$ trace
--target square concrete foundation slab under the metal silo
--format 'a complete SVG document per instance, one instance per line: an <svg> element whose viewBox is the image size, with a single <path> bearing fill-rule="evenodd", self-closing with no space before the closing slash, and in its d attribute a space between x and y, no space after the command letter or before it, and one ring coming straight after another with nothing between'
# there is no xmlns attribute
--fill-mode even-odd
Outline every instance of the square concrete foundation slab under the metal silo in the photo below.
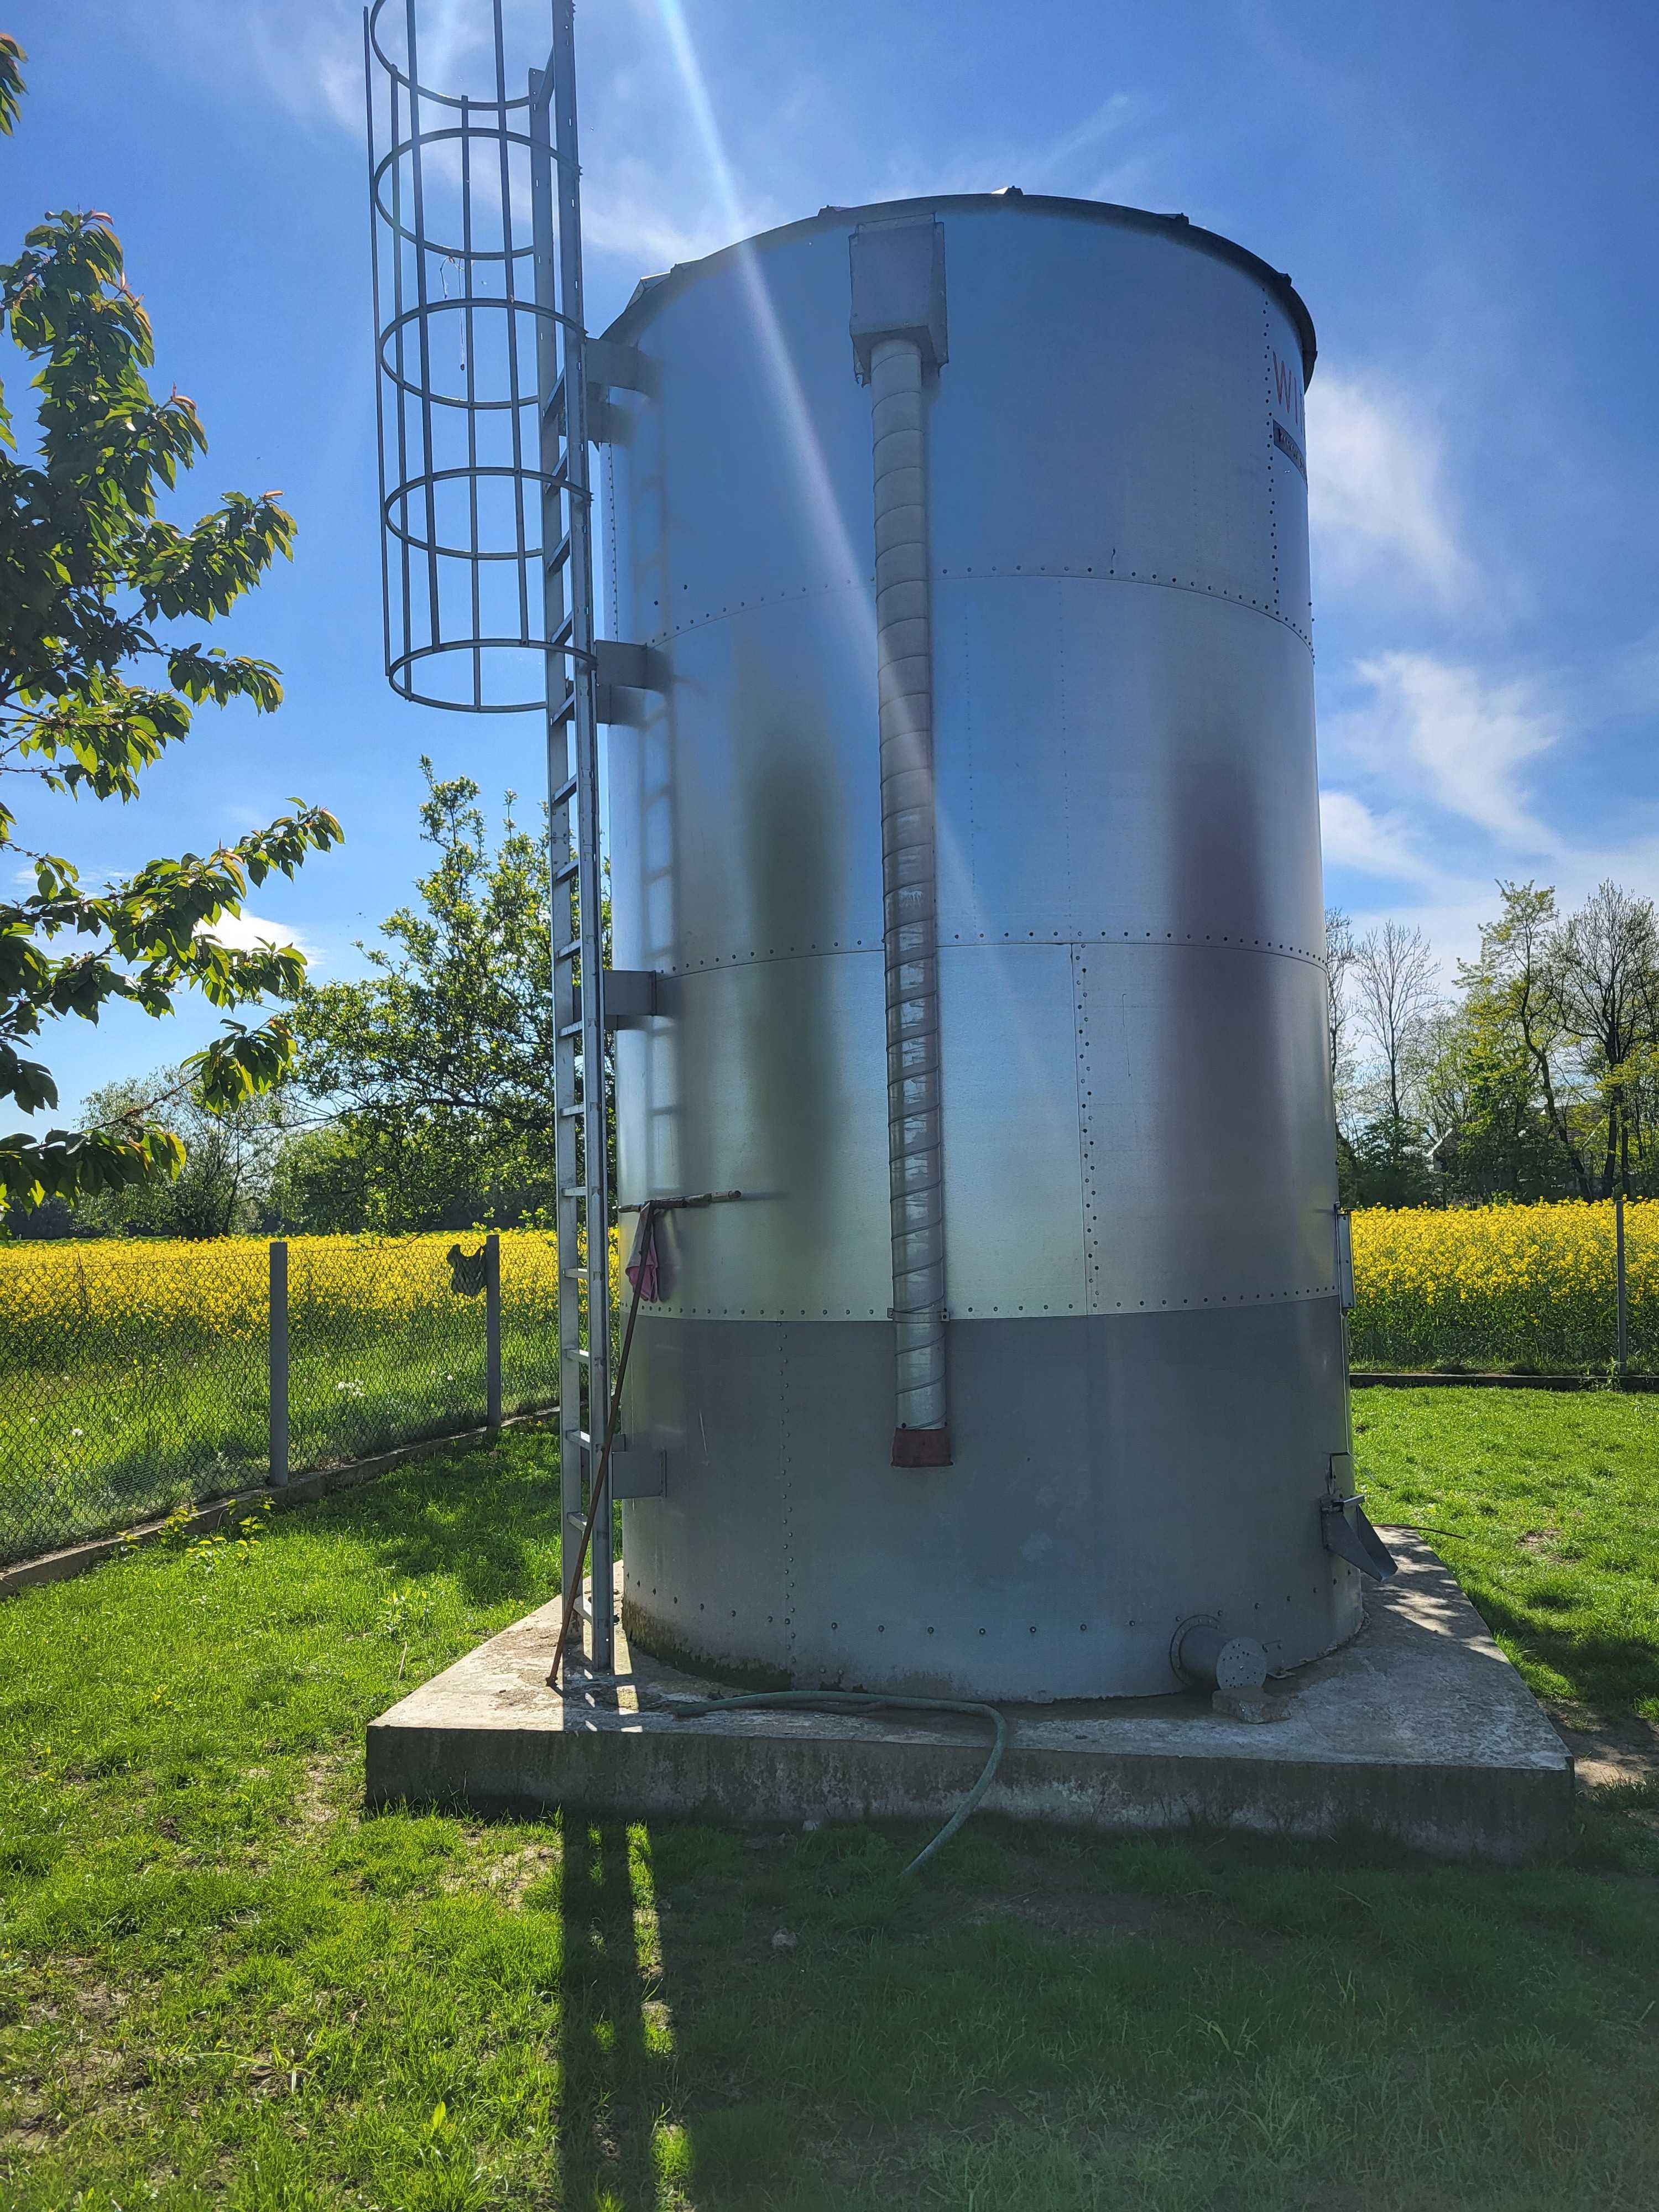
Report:
<svg viewBox="0 0 1659 2212"><path fill-rule="evenodd" d="M1186 1823L1279 1836L1363 1827L1444 1856L1566 1845L1573 1759L1444 1564L1385 1531L1398 1577L1343 1650L1270 1683L1265 1705L1201 1697L1009 1705L987 1812L1095 1829ZM615 1677L546 1688L557 1606L515 1621L367 1732L372 1805L467 1805L732 1823L945 1820L984 1763L953 1717L728 1712L719 1692L617 1641ZM1265 1719L1250 1714L1265 1712Z"/></svg>

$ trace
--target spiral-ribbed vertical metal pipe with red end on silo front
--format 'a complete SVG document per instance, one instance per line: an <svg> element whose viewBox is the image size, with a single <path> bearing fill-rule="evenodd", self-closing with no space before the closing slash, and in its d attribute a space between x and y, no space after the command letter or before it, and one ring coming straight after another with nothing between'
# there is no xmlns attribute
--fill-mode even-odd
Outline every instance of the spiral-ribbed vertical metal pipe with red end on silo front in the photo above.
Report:
<svg viewBox="0 0 1659 2212"><path fill-rule="evenodd" d="M911 338L876 341L869 349L869 396L876 460L887 1166L898 1338L894 1467L949 1467L933 637L920 345Z"/></svg>

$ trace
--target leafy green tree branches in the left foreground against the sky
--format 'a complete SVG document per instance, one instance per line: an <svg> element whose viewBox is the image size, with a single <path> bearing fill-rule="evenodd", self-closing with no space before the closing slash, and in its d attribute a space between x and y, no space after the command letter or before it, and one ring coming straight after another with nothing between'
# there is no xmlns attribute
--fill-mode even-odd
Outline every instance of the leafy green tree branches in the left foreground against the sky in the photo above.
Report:
<svg viewBox="0 0 1659 2212"><path fill-rule="evenodd" d="M18 119L22 60L0 35L0 133ZM197 626L230 613L276 555L290 555L294 522L272 491L226 493L192 529L157 513L159 493L208 440L192 400L177 389L157 400L144 380L150 323L108 217L38 223L0 265L0 319L38 363L40 394L29 453L0 405L0 776L27 779L38 796L131 801L144 772L184 741L197 706L246 699L265 714L281 701L270 661L210 648ZM292 876L338 836L332 814L296 803L234 845L148 860L88 889L62 854L20 843L15 807L0 799L0 865L15 878L15 858L27 860L35 885L27 898L0 898L0 1102L22 1113L58 1104L51 1071L24 1053L44 1022L95 1022L119 1000L166 1015L184 991L226 1015L292 998L305 975L292 945L243 951L212 929L241 914L252 885ZM173 1095L237 1106L276 1084L290 1053L281 1013L228 1018ZM0 1137L0 1192L80 1199L177 1175L184 1144L170 1104L131 1099L88 1128Z"/></svg>

